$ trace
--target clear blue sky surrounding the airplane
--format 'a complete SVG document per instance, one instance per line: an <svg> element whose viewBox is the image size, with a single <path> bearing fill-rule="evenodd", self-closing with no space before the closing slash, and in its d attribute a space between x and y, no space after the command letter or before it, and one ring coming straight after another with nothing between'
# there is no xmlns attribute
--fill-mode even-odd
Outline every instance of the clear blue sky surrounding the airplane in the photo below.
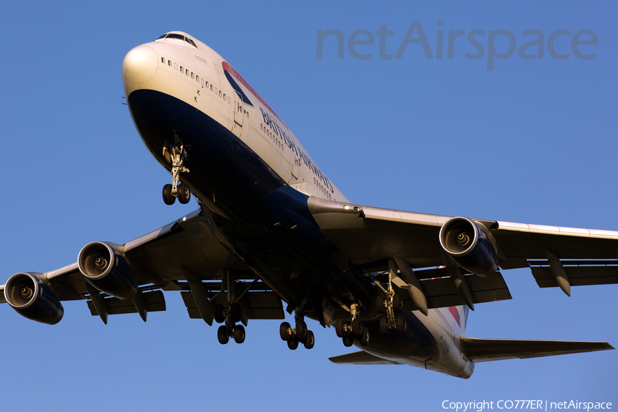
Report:
<svg viewBox="0 0 618 412"><path fill-rule="evenodd" d="M3 5L0 141L5 165L0 283L20 271L76 261L93 240L124 243L196 208L168 207L169 174L152 158L122 105L122 58L170 30L224 56L303 142L331 181L356 203L450 216L618 230L615 1L12 2ZM395 54L419 21L432 59L408 45L399 59L374 45L334 37L316 58L317 32L393 30ZM438 26L437 21L444 21ZM444 58L437 59L437 30ZM448 30L485 30L478 60L466 36L446 58ZM488 37L516 47L545 36L543 59L514 52L488 71ZM547 41L569 54L552 58ZM597 45L576 32L592 30ZM417 37L415 33L413 37ZM358 39L363 39L359 36ZM586 37L584 37L586 38ZM589 37L588 37L589 38ZM507 36L496 36L505 54ZM536 47L527 49L535 53ZM513 296L477 306L466 334L618 344L617 286L541 290L526 270L503 273ZM58 325L0 308L3 410L439 411L443 400L538 399L614 402L617 351L477 365L469 380L413 367L342 367L350 352L334 330L310 325L316 346L290 351L278 321L253 321L242 345L220 345L216 329L189 319L179 295L168 310L91 317L65 304Z"/></svg>

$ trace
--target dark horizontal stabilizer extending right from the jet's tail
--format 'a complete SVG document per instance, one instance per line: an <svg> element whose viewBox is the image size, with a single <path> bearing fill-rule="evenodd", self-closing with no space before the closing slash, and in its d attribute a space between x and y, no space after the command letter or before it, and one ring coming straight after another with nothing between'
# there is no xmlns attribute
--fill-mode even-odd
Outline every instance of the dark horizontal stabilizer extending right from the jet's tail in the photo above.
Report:
<svg viewBox="0 0 618 412"><path fill-rule="evenodd" d="M526 341L514 339L460 338L461 352L474 362L539 358L614 349L607 342Z"/></svg>

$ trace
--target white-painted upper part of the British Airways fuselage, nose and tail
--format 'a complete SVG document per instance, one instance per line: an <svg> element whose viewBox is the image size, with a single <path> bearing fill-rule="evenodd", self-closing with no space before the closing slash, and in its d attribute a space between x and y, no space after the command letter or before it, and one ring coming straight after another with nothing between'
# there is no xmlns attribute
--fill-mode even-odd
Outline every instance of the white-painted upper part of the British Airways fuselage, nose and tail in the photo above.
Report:
<svg viewBox="0 0 618 412"><path fill-rule="evenodd" d="M174 33L191 37L183 32ZM135 90L150 89L182 100L234 133L288 185L299 192L308 196L347 202L347 198L321 172L288 126L249 84L244 82L236 71L230 70L231 74L239 76L233 78L249 97L253 106L242 104L242 100L237 98L236 91L231 87L223 69L223 65L227 62L207 45L195 38L192 39L197 48L180 39L166 38L137 46L129 52L123 63L126 96ZM157 67L145 61L143 73L136 73L135 69L129 73L125 66L134 51L138 55L156 54ZM132 65L135 65L135 62L132 62ZM464 323L463 308L456 309L462 319L461 323ZM464 331L450 310L433 309L426 317L417 311L413 314L433 335L439 347L439 357L419 361L396 354L392 356L376 354L376 356L405 365L469 378L474 371L474 362L466 360L459 350L459 337L463 336ZM358 347L371 352L367 347L360 345Z"/></svg>

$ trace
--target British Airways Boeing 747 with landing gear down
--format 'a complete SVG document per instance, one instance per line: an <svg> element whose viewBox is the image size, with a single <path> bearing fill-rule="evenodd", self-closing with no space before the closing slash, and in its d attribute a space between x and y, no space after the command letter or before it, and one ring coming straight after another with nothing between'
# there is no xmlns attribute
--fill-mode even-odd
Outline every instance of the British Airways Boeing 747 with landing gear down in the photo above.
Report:
<svg viewBox="0 0 618 412"><path fill-rule="evenodd" d="M284 319L292 350L314 346L306 318L361 351L339 364L404 364L469 378L478 362L613 349L603 342L464 336L468 310L511 299L499 269L531 268L541 288L618 282L618 232L436 216L358 205L328 179L283 120L229 63L183 32L122 62L130 115L172 174L163 201L198 209L124 244L91 242L76 263L16 273L1 301L34 321L61 301L93 316L165 310L245 339L249 319ZM156 316L156 315L155 315Z"/></svg>

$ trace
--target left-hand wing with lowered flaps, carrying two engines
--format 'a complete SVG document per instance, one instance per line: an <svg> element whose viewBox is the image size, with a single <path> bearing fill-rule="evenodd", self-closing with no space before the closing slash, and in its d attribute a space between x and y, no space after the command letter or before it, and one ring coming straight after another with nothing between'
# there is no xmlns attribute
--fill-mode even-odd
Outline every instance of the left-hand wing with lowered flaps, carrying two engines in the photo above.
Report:
<svg viewBox="0 0 618 412"><path fill-rule="evenodd" d="M148 312L165 310L163 290L178 290L182 291L190 317L201 317L196 304L200 299L194 296L199 292L194 286L202 284L202 296L205 293L214 304L225 306L228 288L235 289L247 315L243 323L247 323L247 319L284 318L279 297L258 282L253 272L222 245L199 209L126 244L108 244L129 262ZM225 268L224 275L221 268ZM59 301L89 299L87 303L93 316L102 316L95 305L97 299L91 295L98 291L89 288L77 263L32 275L47 284ZM227 282L228 279L231 282ZM5 285L0 286L0 303L6 302L4 288ZM138 312L132 299L119 299L105 293L100 296L106 312L102 316L104 322L107 314ZM211 316L210 313L210 319L205 319L209 323Z"/></svg>

